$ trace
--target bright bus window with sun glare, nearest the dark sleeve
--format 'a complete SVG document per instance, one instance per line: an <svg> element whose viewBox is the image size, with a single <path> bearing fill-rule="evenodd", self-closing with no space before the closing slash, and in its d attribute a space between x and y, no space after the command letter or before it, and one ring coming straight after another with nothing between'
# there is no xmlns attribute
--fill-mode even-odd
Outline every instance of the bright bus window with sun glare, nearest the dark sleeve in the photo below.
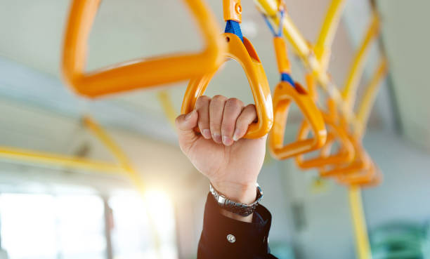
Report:
<svg viewBox="0 0 430 259"><path fill-rule="evenodd" d="M118 194L110 199L114 227L112 244L115 259L178 258L174 207L161 191L149 191L142 199L134 192ZM153 238L159 238L159 251Z"/></svg>

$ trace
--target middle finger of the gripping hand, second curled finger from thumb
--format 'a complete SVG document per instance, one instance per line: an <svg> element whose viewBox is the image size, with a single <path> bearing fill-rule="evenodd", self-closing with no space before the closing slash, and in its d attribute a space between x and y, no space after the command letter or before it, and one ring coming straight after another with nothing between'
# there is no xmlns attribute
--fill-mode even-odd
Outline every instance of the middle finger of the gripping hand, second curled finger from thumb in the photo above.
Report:
<svg viewBox="0 0 430 259"><path fill-rule="evenodd" d="M215 95L209 104L209 126L212 138L221 144L221 122L223 121L224 105L227 98L223 95Z"/></svg>

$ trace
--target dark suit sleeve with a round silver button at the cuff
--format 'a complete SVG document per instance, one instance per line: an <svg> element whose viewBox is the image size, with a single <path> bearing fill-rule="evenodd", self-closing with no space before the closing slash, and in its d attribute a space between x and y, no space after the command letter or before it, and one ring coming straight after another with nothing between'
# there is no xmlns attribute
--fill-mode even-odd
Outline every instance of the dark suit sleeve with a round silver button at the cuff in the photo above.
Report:
<svg viewBox="0 0 430 259"><path fill-rule="evenodd" d="M257 206L252 223L228 218L220 213L218 204L209 193L197 259L275 258L268 249L271 220L271 213L261 205Z"/></svg>

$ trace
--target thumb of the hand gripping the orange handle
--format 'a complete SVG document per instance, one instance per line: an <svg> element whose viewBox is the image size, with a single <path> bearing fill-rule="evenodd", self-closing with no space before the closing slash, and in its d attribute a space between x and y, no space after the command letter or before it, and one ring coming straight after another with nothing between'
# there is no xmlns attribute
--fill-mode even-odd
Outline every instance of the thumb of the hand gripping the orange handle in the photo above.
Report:
<svg viewBox="0 0 430 259"><path fill-rule="evenodd" d="M175 120L179 146L185 154L188 152L188 149L193 145L195 140L197 140L194 128L197 126L198 118L197 111L193 110L193 112L190 112L189 114L179 115Z"/></svg>

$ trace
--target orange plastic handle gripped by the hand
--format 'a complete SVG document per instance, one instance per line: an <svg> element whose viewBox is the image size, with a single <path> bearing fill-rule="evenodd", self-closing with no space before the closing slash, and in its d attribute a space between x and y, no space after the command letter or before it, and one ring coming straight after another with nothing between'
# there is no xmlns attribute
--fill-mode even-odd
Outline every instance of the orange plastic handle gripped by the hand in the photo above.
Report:
<svg viewBox="0 0 430 259"><path fill-rule="evenodd" d="M224 33L223 38L227 41L227 51L223 53L224 60L236 60L245 70L256 105L258 121L249 126L245 138L261 138L271 130L273 124L271 89L263 65L247 38L244 37L242 42L238 36L231 33ZM203 95L215 72L191 79L183 97L182 114L194 109L197 98Z"/></svg>

